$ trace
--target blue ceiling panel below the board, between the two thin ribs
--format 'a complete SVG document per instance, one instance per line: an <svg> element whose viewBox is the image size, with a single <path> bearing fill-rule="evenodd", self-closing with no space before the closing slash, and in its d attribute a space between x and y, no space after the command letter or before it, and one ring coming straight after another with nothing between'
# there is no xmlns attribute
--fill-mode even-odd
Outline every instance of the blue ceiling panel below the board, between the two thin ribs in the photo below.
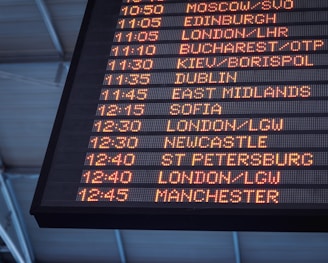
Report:
<svg viewBox="0 0 328 263"><path fill-rule="evenodd" d="M235 262L231 232L123 231L122 237L128 262Z"/></svg>

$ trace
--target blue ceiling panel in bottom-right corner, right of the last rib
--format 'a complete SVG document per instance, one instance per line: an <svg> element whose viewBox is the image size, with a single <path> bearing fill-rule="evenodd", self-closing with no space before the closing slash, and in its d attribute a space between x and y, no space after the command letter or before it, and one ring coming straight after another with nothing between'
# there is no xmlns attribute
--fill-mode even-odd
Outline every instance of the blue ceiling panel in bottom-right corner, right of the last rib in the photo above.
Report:
<svg viewBox="0 0 328 263"><path fill-rule="evenodd" d="M328 235L325 233L239 233L242 262L325 263Z"/></svg>

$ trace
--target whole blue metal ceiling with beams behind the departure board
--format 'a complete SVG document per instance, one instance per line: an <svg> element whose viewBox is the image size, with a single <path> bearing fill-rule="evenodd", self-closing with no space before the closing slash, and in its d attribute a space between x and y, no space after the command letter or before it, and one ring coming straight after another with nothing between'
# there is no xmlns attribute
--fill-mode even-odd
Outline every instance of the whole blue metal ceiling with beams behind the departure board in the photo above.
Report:
<svg viewBox="0 0 328 263"><path fill-rule="evenodd" d="M29 208L85 6L0 0L0 262L328 262L327 233L37 226Z"/></svg>

